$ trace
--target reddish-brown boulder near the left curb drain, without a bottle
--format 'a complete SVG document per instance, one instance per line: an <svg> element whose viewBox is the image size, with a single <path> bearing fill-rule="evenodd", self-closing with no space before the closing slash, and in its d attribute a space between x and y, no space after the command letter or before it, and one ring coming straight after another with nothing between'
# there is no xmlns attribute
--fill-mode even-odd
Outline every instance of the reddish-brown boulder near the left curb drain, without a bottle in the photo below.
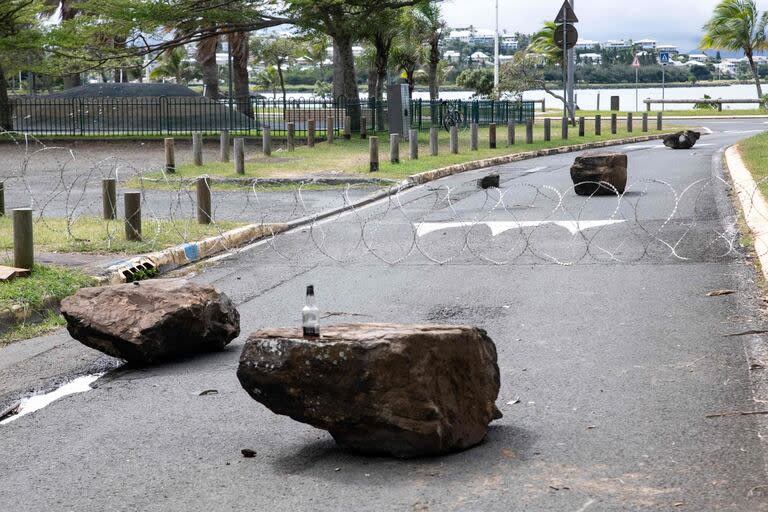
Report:
<svg viewBox="0 0 768 512"><path fill-rule="evenodd" d="M183 279L83 288L61 312L73 338L138 364L221 350L240 334L229 297Z"/></svg>

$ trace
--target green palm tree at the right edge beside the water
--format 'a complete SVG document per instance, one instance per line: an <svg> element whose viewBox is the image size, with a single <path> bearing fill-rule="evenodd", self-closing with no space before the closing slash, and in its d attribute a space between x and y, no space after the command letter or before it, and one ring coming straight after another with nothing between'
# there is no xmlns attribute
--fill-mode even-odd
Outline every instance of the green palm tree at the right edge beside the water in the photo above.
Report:
<svg viewBox="0 0 768 512"><path fill-rule="evenodd" d="M768 48L766 25L768 13L760 13L754 0L722 0L704 25L704 37L701 39L702 49L744 52L755 79L758 98L763 97L763 88L754 53Z"/></svg>

